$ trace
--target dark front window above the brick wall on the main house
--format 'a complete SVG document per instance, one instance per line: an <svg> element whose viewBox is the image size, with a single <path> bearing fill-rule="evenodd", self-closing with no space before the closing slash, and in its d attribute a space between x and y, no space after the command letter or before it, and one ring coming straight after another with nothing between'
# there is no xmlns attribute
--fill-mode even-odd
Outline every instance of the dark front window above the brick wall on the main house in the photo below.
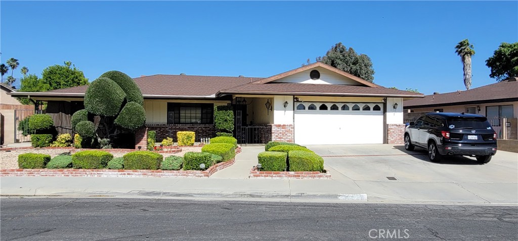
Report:
<svg viewBox="0 0 518 241"><path fill-rule="evenodd" d="M167 124L212 124L213 104L167 103Z"/></svg>

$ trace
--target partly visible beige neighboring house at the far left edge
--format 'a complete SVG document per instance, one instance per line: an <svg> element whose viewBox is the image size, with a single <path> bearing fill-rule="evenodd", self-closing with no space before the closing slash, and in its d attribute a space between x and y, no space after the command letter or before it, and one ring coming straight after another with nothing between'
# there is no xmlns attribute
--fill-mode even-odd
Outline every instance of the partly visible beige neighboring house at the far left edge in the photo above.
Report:
<svg viewBox="0 0 518 241"><path fill-rule="evenodd" d="M20 117L25 117L27 113L32 115L33 105L23 105L18 99L12 97L8 93L16 91L15 89L0 84L0 145L11 144L16 141L19 134L16 130L16 124ZM18 117L18 118L17 118Z"/></svg>

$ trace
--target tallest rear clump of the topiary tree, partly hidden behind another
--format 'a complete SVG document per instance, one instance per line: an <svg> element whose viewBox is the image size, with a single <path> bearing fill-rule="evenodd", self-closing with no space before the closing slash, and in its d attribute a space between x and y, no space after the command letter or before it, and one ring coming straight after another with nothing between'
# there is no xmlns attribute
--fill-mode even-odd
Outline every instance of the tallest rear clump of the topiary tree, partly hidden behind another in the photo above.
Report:
<svg viewBox="0 0 518 241"><path fill-rule="evenodd" d="M121 89L126 93L127 102L136 102L139 105L144 105L144 98L140 88L135 83L132 77L120 71L108 71L102 74L100 77L109 78L113 82L117 83Z"/></svg>

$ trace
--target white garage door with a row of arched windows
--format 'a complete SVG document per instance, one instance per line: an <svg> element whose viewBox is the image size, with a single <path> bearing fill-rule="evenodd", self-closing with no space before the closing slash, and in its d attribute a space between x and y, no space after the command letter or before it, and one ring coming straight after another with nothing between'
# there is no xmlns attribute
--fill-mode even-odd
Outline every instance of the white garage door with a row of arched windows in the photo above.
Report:
<svg viewBox="0 0 518 241"><path fill-rule="evenodd" d="M295 107L295 143L383 143L382 103L303 102Z"/></svg>

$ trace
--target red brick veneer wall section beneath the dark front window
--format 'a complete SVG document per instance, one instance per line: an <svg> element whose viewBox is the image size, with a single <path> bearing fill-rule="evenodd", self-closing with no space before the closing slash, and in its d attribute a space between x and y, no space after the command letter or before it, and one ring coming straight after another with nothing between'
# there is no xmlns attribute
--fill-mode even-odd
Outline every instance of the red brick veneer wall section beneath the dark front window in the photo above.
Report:
<svg viewBox="0 0 518 241"><path fill-rule="evenodd" d="M162 141L166 137L171 137L174 141L177 132L194 132L195 141L200 141L200 138L212 138L216 136L216 128L214 125L190 125L190 124L148 124L146 125L149 131L156 132L156 141Z"/></svg>

